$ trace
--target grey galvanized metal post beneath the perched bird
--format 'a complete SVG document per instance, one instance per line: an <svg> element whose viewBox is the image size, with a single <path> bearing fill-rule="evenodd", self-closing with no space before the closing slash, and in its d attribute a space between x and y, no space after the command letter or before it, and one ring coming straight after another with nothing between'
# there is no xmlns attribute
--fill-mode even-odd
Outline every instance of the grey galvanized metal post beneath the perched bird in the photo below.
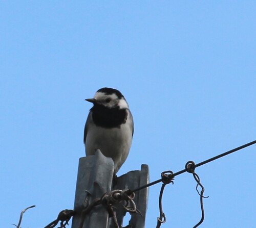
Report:
<svg viewBox="0 0 256 228"><path fill-rule="evenodd" d="M79 159L74 210L78 212L73 216L72 228L79 228L81 211L87 208L95 198L100 198L104 193L114 189L134 189L146 185L149 182L148 166L142 165L141 170L130 171L114 180L114 163L111 158L106 158L100 150L94 156ZM132 214L130 225L133 228L143 228L147 208L148 189L136 192L134 202L140 213ZM122 225L125 211L121 205L115 205L115 211L119 227ZM83 228L114 228L112 218L108 211L101 205L95 206L86 215Z"/></svg>

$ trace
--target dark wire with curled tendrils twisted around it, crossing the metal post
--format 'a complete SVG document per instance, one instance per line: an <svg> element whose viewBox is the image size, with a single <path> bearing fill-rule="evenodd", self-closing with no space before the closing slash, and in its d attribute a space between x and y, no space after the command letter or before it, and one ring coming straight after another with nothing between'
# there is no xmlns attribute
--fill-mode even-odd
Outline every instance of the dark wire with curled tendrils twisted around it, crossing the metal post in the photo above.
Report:
<svg viewBox="0 0 256 228"><path fill-rule="evenodd" d="M164 191L164 188L167 184L169 183L174 183L173 180L174 180L174 177L177 176L177 175L180 175L184 172L189 172L189 173L192 173L193 176L194 176L194 179L195 181L197 182L197 186L196 186L196 190L198 192L198 194L200 195L200 206L201 206L201 213L202 213L202 216L201 216L201 220L193 227L193 228L196 228L198 227L204 220L204 208L203 208L203 198L207 198L203 195L204 193L204 187L203 185L201 184L200 182L200 178L199 178L199 175L195 172L195 169L199 166L202 166L202 165L205 165L209 162L212 162L214 160L217 160L219 158L222 158L226 155L229 155L231 153L234 153L238 150L241 150L245 147L248 147L250 145L253 145L256 143L256 140L254 141L251 141L249 143L246 143L242 146L239 146L237 148L234 148L234 149L231 149L229 151L226 151L225 153L222 153L218 156L215 156L215 157L212 157L210 159L207 159L203 162L200 162L198 164L195 164L195 162L193 161L188 161L185 165L185 169L183 170L180 170L176 173L173 173L172 171L165 171L165 172L162 172L161 173L161 179L157 180L157 181L154 181L152 183L148 183L147 185L144 185L144 186L140 186L139 188L136 188L136 189L125 189L125 190L114 190L108 194L103 194L103 196L101 198L96 198L92 201L92 203L90 205L88 205L88 207L86 209L84 209L81 213L81 222L80 222L80 226L79 228L82 228L83 226L83 221L86 217L86 215L95 207L95 206L98 206L98 205L103 205L104 207L106 207L106 209L108 210L109 212L109 215L110 217L113 217L114 219L114 225L115 225L115 228L119 228L119 225L117 223L117 218L116 218L116 213L114 212L113 210L113 205L116 205L116 204L120 204L122 201L125 202L125 206L122 205L122 207L124 208L124 210L126 210L127 212L129 213L140 213L140 211L136 208L136 205L135 205L135 202L133 201L134 197L135 197L135 192L136 191L139 191L139 190L142 190L144 188L147 188L147 187L150 187L152 185L155 185L155 184L158 184L160 182L162 182L162 187L161 187L161 190L160 190L160 194L159 194L159 212L160 212L160 216L157 218L157 226L156 228L159 228L161 226L162 223L164 223L166 221L166 217L165 217L165 214L163 213L163 209L162 209L162 196L163 196L163 191ZM198 190L198 187L201 187L201 192L199 192ZM129 206L130 205L130 206ZM34 207L34 206L32 206ZM32 207L29 207L29 208L32 208ZM29 209L27 208L27 209ZM27 210L25 209L22 214L20 215L20 222L21 222L21 219L22 219L22 215L23 213ZM59 228L65 228L65 226L68 224L69 220L71 219L71 217L75 214L75 211L73 210L63 210L59 213L58 217L56 220L54 220L53 222L51 222L50 224L48 224L47 226L45 226L45 228L53 228L55 227L58 222L60 221L60 227ZM141 214L141 213L140 213ZM19 224L16 226L17 228L19 227L20 225L20 222Z"/></svg>

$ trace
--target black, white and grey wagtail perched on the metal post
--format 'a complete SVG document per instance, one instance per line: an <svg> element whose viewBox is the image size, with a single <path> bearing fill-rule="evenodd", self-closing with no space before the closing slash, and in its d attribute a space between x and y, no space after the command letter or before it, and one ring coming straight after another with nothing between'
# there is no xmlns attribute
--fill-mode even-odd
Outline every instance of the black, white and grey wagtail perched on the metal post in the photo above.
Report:
<svg viewBox="0 0 256 228"><path fill-rule="evenodd" d="M86 155L94 155L97 149L114 161L114 174L126 160L133 138L133 116L120 91L112 88L99 89L94 98L86 125L83 142Z"/></svg>

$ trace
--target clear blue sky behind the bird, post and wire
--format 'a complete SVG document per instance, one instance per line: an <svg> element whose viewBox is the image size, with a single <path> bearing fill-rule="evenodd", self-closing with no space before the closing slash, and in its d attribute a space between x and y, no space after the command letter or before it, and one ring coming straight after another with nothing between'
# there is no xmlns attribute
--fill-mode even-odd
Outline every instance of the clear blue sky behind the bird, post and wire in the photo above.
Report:
<svg viewBox="0 0 256 228"><path fill-rule="evenodd" d="M1 1L0 227L41 228L72 209L83 126L101 87L119 89L135 121L118 175L199 163L256 139L256 2ZM256 145L197 168L201 227L255 226ZM163 195L162 227L201 217L193 176ZM155 227L161 184L150 188ZM69 226L70 227L70 226Z"/></svg>

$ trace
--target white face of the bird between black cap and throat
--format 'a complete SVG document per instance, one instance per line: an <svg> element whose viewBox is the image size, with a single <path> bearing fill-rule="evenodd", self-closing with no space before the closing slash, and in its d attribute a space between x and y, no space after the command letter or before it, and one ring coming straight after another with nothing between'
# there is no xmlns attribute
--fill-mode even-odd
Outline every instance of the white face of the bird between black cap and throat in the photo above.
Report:
<svg viewBox="0 0 256 228"><path fill-rule="evenodd" d="M105 94L102 92L96 92L94 99L97 100L97 103L108 108L119 107L120 109L128 109L129 106L126 100L121 97L120 99L115 93Z"/></svg>

